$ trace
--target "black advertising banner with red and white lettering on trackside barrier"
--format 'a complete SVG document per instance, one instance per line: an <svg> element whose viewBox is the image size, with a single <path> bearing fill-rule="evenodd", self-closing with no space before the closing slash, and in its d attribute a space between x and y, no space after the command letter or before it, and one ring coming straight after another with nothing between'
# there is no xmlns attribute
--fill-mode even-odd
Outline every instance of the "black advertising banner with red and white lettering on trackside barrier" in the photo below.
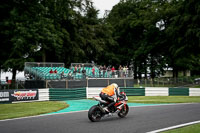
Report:
<svg viewBox="0 0 200 133"><path fill-rule="evenodd" d="M0 91L0 103L38 100L37 89Z"/></svg>

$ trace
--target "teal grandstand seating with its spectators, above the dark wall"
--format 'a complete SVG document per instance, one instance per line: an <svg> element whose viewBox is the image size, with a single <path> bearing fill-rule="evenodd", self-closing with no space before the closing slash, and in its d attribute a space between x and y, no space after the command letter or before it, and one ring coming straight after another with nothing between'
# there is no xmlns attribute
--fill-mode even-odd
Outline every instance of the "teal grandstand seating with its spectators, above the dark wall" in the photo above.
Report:
<svg viewBox="0 0 200 133"><path fill-rule="evenodd" d="M26 62L24 72L27 79L44 80L133 77L128 68L115 70L92 63L72 63L70 68L65 68L64 63Z"/></svg>

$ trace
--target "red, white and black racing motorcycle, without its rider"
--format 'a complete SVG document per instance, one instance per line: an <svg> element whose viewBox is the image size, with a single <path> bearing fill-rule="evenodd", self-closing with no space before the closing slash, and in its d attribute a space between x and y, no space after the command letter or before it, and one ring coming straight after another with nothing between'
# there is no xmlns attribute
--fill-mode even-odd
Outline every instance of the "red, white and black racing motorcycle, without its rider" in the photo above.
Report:
<svg viewBox="0 0 200 133"><path fill-rule="evenodd" d="M102 100L100 97L93 97L96 101L99 101L97 105L92 106L88 111L88 118L92 122L100 121L104 116L112 116L115 113L120 117L124 118L129 111L129 107L127 105L128 97L125 92L120 93L120 98L115 103L114 106L110 108L110 112L104 110L106 106L108 106L108 102Z"/></svg>

